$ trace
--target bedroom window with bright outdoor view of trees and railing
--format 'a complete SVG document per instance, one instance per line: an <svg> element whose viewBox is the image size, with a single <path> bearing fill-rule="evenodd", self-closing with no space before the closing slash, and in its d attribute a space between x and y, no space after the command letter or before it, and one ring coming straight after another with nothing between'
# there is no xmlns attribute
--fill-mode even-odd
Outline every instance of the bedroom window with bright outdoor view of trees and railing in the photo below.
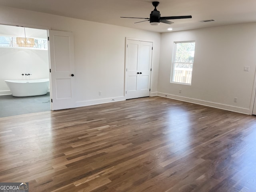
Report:
<svg viewBox="0 0 256 192"><path fill-rule="evenodd" d="M175 42L171 82L191 85L195 42Z"/></svg>

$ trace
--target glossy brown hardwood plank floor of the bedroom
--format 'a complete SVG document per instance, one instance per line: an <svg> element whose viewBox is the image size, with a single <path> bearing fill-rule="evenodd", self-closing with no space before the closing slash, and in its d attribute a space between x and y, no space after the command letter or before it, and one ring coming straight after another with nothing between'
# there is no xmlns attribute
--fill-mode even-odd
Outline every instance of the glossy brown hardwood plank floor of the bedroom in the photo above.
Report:
<svg viewBox="0 0 256 192"><path fill-rule="evenodd" d="M0 118L30 192L255 192L256 116L161 97Z"/></svg>

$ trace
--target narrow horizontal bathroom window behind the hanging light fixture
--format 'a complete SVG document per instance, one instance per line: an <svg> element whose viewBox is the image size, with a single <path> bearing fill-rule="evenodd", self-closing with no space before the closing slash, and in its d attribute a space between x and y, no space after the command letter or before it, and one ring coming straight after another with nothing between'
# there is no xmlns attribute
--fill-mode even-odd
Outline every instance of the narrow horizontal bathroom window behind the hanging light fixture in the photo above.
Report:
<svg viewBox="0 0 256 192"><path fill-rule="evenodd" d="M48 43L47 39L43 38L34 38L34 46L29 47L30 49L48 49ZM23 48L19 47L16 42L16 36L0 36L0 47L17 47L17 48ZM27 48L27 47L26 47Z"/></svg>

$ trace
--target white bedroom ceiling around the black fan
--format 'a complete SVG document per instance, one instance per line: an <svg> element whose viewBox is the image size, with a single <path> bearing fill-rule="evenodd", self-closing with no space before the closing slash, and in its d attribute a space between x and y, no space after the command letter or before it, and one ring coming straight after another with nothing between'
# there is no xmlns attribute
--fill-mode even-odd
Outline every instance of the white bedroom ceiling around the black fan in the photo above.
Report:
<svg viewBox="0 0 256 192"><path fill-rule="evenodd" d="M148 18L154 9L152 0L0 0L0 5L50 13L82 20L149 30L167 32L256 22L256 0L159 0L157 10L161 16L192 15L192 19L170 20L172 25L149 22L134 24ZM201 20L214 22L199 22Z"/></svg>

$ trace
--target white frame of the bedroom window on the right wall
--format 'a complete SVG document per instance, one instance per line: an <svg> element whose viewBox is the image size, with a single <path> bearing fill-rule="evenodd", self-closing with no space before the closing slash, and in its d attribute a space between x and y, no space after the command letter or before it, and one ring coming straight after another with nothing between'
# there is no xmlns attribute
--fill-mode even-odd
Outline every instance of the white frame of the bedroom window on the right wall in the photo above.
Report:
<svg viewBox="0 0 256 192"><path fill-rule="evenodd" d="M191 71L191 80L190 83L183 83L183 82L176 82L174 81L174 68L175 68L175 59L176 59L176 49L177 49L177 44L179 43L196 43L194 40L192 41L178 41L178 42L174 42L174 49L173 49L173 53L172 53L172 66L171 66L171 77L170 77L170 82L171 83L175 83L175 84L184 84L184 85L191 85L192 82L192 70L193 70L193 66L194 66L194 60L193 63L187 63L187 64L192 64L192 69L188 68L188 71Z"/></svg>

